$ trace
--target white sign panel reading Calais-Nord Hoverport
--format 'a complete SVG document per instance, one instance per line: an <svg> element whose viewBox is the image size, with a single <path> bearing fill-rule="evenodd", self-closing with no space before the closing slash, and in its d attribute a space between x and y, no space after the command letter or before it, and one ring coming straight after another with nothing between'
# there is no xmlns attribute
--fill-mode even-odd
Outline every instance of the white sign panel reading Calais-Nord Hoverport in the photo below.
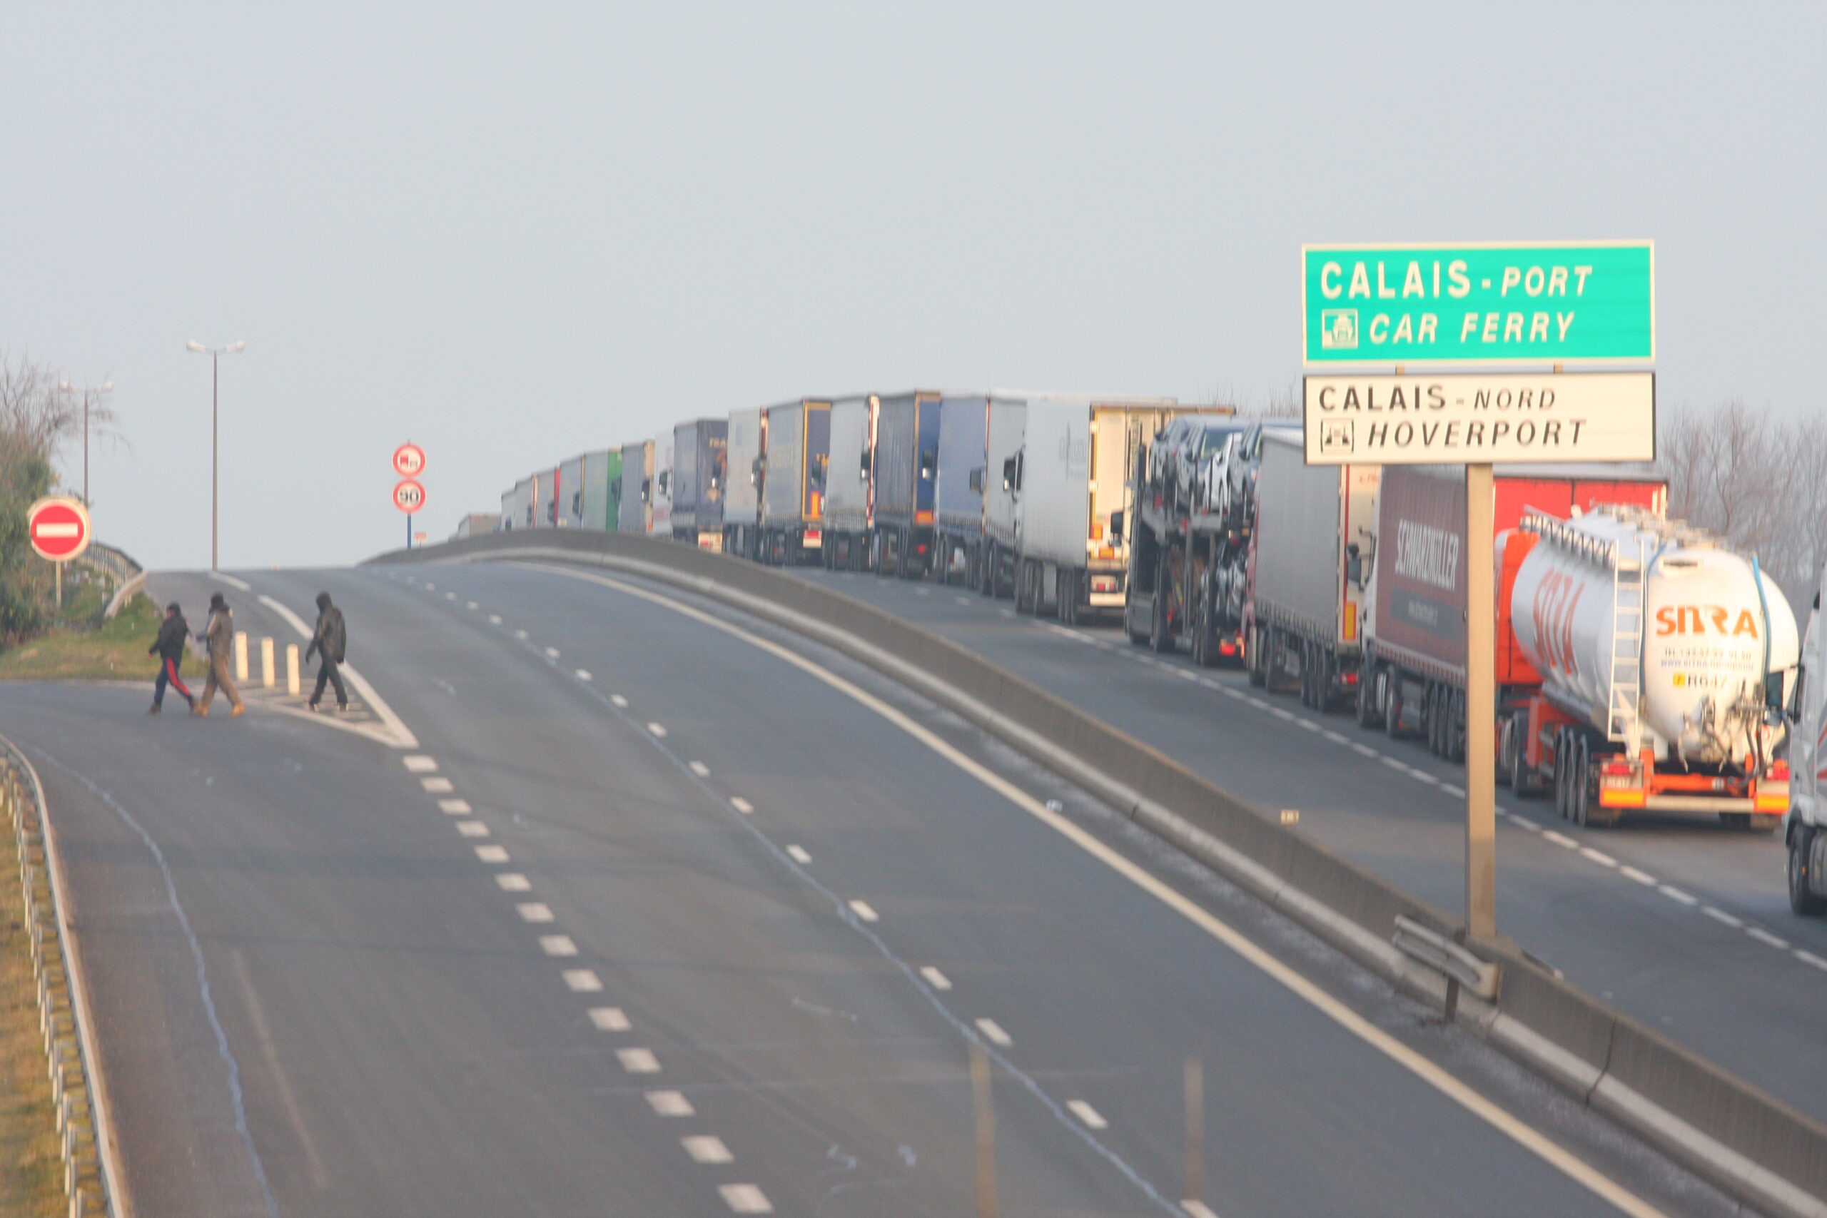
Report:
<svg viewBox="0 0 1827 1218"><path fill-rule="evenodd" d="M1308 376L1306 464L1655 460L1655 373Z"/></svg>

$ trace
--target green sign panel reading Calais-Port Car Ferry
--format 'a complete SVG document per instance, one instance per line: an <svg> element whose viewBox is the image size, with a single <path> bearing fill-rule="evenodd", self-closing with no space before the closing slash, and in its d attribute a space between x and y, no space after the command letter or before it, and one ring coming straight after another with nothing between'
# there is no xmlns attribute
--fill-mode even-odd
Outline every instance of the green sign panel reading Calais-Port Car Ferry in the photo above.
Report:
<svg viewBox="0 0 1827 1218"><path fill-rule="evenodd" d="M1306 363L1650 363L1655 243L1301 247Z"/></svg>

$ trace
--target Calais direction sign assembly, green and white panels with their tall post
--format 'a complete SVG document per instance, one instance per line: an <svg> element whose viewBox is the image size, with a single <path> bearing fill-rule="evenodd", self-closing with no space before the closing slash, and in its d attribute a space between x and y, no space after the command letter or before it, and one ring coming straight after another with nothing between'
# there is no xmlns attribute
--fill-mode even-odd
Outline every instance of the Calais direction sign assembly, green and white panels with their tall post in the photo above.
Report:
<svg viewBox="0 0 1827 1218"><path fill-rule="evenodd" d="M1564 363L1655 360L1650 241L1310 245L1306 464L1465 466L1465 933L1496 937L1494 462L1655 460L1655 374ZM1410 363L1553 373L1421 373Z"/></svg>

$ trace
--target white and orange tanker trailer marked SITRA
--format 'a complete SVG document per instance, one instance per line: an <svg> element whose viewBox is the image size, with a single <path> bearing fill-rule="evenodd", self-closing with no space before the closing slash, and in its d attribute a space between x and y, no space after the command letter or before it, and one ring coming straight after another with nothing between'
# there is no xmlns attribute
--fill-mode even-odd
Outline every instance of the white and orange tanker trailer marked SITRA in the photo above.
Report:
<svg viewBox="0 0 1827 1218"><path fill-rule="evenodd" d="M1756 559L1679 520L1540 511L1504 539L1500 604L1535 692L1509 688L1498 763L1522 794L1610 825L1632 809L1772 831L1789 811L1783 690L1801 646ZM1502 623L1500 623L1502 626Z"/></svg>

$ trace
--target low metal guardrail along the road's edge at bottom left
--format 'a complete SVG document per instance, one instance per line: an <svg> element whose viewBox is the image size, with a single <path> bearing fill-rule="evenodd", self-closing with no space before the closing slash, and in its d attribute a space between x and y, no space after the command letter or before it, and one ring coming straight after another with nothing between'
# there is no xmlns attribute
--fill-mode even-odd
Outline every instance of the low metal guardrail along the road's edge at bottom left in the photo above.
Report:
<svg viewBox="0 0 1827 1218"><path fill-rule="evenodd" d="M0 811L13 835L18 878L31 935L31 971L37 981L38 1030L44 1034L51 1076L51 1105L64 1158L69 1218L115 1218L113 1189L104 1167L100 1136L106 1127L95 1097L93 1048L82 979L64 940L64 898L55 844L46 836L44 793L31 761L0 738Z"/></svg>

